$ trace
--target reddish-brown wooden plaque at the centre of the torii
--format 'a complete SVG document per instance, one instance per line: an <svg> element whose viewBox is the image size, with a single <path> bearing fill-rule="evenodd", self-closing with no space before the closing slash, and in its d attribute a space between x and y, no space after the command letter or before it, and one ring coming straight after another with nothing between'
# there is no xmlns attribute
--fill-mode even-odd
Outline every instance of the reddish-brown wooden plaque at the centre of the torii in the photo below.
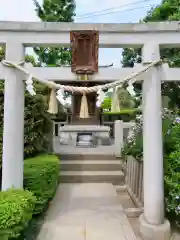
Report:
<svg viewBox="0 0 180 240"><path fill-rule="evenodd" d="M70 32L72 63L71 71L76 74L94 74L98 72L99 32Z"/></svg>

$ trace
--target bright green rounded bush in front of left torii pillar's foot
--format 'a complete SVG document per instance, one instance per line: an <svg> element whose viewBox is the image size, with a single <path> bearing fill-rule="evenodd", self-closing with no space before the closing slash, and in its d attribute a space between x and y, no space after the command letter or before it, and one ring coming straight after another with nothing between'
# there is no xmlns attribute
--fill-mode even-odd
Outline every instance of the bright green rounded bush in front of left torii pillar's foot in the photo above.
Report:
<svg viewBox="0 0 180 240"><path fill-rule="evenodd" d="M17 238L32 219L36 198L29 191L0 192L0 239Z"/></svg>

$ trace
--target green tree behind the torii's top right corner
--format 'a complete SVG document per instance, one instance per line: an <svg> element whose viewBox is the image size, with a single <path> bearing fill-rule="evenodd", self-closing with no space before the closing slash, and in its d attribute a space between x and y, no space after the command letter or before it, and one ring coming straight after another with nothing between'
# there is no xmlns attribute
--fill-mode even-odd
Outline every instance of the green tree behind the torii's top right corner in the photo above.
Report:
<svg viewBox="0 0 180 240"><path fill-rule="evenodd" d="M142 20L142 22L155 21L179 21L180 20L180 2L179 0L163 0L161 4L152 8ZM134 63L140 62L140 49L123 50L122 65L124 67L133 67ZM161 58L166 59L170 67L180 67L179 49L162 49ZM180 84L175 82L164 83L162 93L170 99L170 108L180 108Z"/></svg>

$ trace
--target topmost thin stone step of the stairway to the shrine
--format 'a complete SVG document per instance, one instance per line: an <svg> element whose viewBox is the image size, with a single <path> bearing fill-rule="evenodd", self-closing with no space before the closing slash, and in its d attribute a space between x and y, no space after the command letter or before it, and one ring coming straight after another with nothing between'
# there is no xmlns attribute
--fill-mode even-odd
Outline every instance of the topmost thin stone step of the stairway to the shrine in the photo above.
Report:
<svg viewBox="0 0 180 240"><path fill-rule="evenodd" d="M121 160L108 154L61 154L60 160Z"/></svg>

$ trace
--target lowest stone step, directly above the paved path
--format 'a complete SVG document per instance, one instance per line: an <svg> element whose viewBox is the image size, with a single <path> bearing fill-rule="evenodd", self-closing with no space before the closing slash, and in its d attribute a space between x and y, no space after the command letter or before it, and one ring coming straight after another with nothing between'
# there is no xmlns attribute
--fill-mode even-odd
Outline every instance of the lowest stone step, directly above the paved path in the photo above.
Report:
<svg viewBox="0 0 180 240"><path fill-rule="evenodd" d="M124 173L122 171L61 171L60 182L124 185Z"/></svg>

